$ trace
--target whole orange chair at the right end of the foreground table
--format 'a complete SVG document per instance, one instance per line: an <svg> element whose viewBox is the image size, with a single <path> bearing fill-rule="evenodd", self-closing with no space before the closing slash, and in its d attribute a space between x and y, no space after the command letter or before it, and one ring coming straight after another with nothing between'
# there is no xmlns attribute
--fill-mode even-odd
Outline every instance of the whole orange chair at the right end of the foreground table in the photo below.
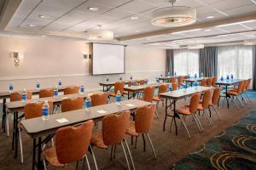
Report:
<svg viewBox="0 0 256 170"><path fill-rule="evenodd" d="M155 112L155 105L149 105L137 108L135 113L135 121L130 122L130 128L127 130L127 134L132 136L136 136L136 143L135 147L137 146L137 137L140 134L143 134L143 143L144 143L144 151L146 150L146 143L145 143L145 137L144 134L147 135L149 143L151 145L151 149L154 153L154 158L156 159L154 146L152 144L152 141L149 137L148 130L151 127L151 124L154 119L154 112ZM131 138L132 140L132 138Z"/></svg>

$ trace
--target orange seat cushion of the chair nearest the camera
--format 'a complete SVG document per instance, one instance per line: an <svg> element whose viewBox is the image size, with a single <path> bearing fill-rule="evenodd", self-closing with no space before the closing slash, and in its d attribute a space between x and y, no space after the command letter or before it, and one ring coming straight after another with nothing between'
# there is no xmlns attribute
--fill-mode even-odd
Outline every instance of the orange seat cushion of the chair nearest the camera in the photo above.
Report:
<svg viewBox="0 0 256 170"><path fill-rule="evenodd" d="M51 166L64 167L64 165L58 161L55 146L49 147L48 149L44 150L42 152L42 155L44 156L44 159L48 161Z"/></svg>

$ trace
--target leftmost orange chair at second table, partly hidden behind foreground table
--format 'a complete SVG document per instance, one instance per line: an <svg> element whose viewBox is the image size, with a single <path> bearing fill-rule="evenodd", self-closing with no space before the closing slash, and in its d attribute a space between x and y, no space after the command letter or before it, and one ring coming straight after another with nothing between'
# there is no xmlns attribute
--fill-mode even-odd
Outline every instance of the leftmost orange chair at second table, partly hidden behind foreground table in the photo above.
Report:
<svg viewBox="0 0 256 170"><path fill-rule="evenodd" d="M51 115L52 109L53 109L53 102L48 101L48 104L49 104L49 115ZM35 117L42 116L43 105L44 105L44 102L27 103L24 106L25 119L32 119ZM22 147L22 139L21 139L22 126L20 125L20 123L18 125L18 130L19 130L19 141L20 141L20 162L23 163L23 147Z"/></svg>

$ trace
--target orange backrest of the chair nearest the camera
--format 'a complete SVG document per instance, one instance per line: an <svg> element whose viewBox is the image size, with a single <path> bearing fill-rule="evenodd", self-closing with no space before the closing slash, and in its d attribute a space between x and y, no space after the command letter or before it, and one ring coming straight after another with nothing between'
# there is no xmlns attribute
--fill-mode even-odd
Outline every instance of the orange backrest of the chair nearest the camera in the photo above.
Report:
<svg viewBox="0 0 256 170"><path fill-rule="evenodd" d="M92 136L93 121L78 127L61 127L55 133L55 149L61 164L81 160L88 151Z"/></svg>

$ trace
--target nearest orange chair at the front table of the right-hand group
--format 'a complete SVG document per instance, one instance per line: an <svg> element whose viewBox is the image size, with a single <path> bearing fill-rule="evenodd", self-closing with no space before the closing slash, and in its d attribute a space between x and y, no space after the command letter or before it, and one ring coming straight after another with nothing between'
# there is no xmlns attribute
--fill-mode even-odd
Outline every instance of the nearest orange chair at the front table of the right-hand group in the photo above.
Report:
<svg viewBox="0 0 256 170"><path fill-rule="evenodd" d="M199 132L203 131L203 128L201 126L201 122L199 121L198 117L195 114L197 109L198 109L198 106L199 106L199 94L193 94L191 96L190 104L189 105L187 105L187 106L185 106L183 108L177 108L175 110L177 114L183 116L183 117L180 117L180 120L183 123L183 126L185 127L185 129L186 129L186 131L187 131L187 133L189 135L189 139L191 138L190 134L189 134L189 130L188 130L188 127L186 126L186 124L184 122L186 116L192 116L193 119L195 120L195 123L196 123L197 127L199 128ZM172 127L172 124L171 124L171 127Z"/></svg>

